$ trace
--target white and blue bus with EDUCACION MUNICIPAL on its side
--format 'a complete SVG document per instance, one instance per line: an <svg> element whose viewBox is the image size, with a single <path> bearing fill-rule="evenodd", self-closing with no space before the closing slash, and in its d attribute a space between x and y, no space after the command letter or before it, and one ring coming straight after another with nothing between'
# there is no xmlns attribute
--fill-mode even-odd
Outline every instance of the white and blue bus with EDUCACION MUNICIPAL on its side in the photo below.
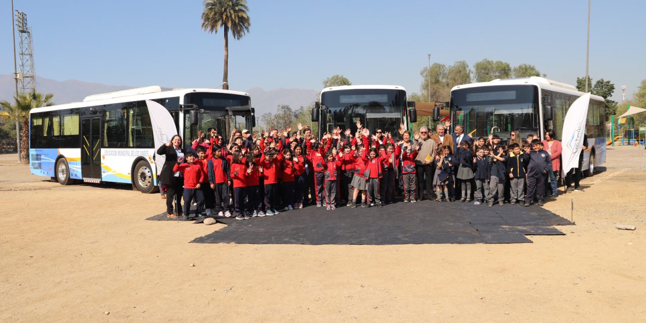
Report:
<svg viewBox="0 0 646 323"><path fill-rule="evenodd" d="M157 185L158 147L145 100L169 110L185 147L191 146L198 130L214 127L227 138L233 127L255 125L251 98L244 92L153 86L96 94L83 102L30 111L30 171L63 185L130 183L151 193ZM203 110L197 123L191 123L188 109Z"/></svg>

